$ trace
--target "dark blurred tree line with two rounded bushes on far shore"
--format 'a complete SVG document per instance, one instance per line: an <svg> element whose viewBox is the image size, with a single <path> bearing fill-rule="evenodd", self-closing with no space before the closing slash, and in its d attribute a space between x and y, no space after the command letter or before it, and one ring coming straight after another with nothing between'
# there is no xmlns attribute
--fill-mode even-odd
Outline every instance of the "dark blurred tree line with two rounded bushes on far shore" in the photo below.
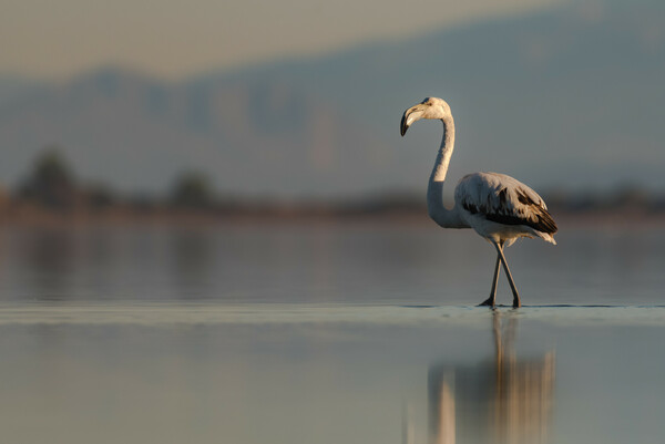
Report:
<svg viewBox="0 0 665 444"><path fill-rule="evenodd" d="M665 195L625 185L608 193L542 193L552 211L593 213L643 210L665 213ZM225 215L371 215L424 211L420 195L385 193L366 198L284 202L219 197L201 172L183 172L163 195L122 195L101 183L83 183L57 147L44 149L29 174L2 196L4 208L37 208L52 213L104 211L198 213Z"/></svg>

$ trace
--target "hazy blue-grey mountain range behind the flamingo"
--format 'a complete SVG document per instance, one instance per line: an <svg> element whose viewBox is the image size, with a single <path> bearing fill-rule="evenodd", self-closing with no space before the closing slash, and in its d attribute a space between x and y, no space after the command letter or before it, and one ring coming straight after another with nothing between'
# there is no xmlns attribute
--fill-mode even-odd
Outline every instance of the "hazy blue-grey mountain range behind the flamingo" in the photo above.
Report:
<svg viewBox="0 0 665 444"><path fill-rule="evenodd" d="M157 192L182 171L250 196L423 193L444 97L450 179L500 171L535 188L665 187L665 6L594 2L165 83L108 68L65 83L0 76L0 182L58 145L84 179Z"/></svg>

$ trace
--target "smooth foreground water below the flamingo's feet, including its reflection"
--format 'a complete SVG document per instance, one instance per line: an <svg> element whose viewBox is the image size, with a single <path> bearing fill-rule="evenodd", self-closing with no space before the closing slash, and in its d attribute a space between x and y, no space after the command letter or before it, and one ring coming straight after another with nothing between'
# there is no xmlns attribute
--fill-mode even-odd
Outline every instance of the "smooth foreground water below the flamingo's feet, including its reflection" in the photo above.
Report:
<svg viewBox="0 0 665 444"><path fill-rule="evenodd" d="M11 304L9 442L665 438L664 307Z"/></svg>

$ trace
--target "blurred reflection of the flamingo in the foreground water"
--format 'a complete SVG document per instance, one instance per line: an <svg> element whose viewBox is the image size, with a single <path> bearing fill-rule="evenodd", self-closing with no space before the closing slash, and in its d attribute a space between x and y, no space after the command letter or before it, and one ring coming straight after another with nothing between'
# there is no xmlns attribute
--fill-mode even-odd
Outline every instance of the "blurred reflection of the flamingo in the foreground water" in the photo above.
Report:
<svg viewBox="0 0 665 444"><path fill-rule="evenodd" d="M507 316L507 322L502 317ZM430 443L544 444L549 440L554 352L519 359L518 319L493 312L494 357L480 365L429 371Z"/></svg>

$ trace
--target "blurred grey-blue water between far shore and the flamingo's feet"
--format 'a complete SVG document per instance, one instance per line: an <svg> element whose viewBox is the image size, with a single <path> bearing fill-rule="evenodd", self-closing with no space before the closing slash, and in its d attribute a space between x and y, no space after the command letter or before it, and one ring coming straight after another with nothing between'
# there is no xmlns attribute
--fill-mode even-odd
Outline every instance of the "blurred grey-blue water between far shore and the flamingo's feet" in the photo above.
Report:
<svg viewBox="0 0 665 444"><path fill-rule="evenodd" d="M525 304L665 303L665 227L564 226L557 241L507 250ZM4 228L0 299L474 304L494 259L433 224Z"/></svg>

